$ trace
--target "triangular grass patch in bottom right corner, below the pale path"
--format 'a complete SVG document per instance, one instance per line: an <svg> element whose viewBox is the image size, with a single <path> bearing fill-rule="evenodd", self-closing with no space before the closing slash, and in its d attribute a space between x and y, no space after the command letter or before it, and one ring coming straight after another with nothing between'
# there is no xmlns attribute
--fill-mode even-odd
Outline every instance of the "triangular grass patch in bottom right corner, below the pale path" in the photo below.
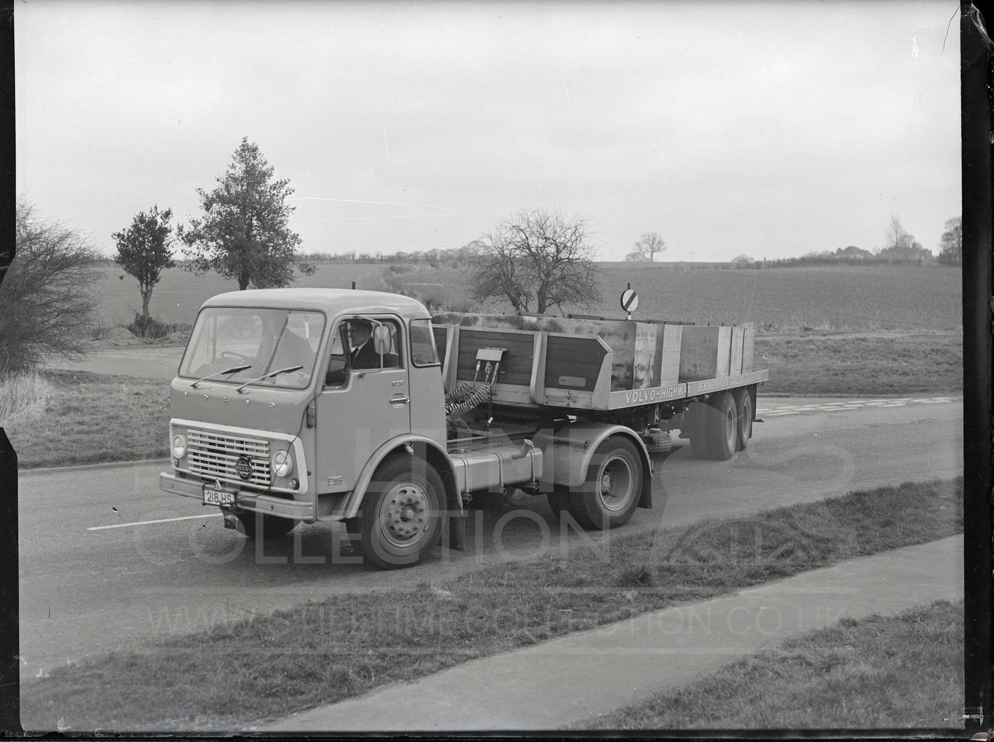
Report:
<svg viewBox="0 0 994 742"><path fill-rule="evenodd" d="M571 728L962 729L963 647L962 601L843 619Z"/></svg>

